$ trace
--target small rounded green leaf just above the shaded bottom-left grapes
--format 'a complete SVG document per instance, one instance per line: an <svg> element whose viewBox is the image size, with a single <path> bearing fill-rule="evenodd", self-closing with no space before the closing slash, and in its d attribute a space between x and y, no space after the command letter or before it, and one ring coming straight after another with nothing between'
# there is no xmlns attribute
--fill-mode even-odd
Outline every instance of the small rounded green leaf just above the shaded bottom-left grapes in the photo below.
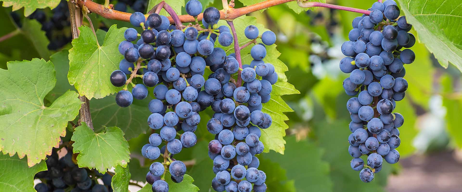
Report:
<svg viewBox="0 0 462 192"><path fill-rule="evenodd" d="M94 133L84 122L75 128L71 138L75 143L74 153L77 156L79 167L97 169L100 173L106 173L117 165L127 167L130 161L128 142L123 137L123 132L118 127L106 127L100 133Z"/></svg>

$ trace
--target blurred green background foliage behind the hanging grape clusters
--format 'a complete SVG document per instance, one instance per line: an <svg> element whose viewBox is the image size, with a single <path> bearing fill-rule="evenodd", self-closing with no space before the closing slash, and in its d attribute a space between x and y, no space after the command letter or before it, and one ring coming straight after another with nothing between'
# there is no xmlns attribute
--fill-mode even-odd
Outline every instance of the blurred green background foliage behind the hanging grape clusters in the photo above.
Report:
<svg viewBox="0 0 462 192"><path fill-rule="evenodd" d="M95 1L103 3L103 0ZM117 7L115 0L111 0L111 3L126 12L145 12L143 10L155 4L155 0L151 1L149 4L143 1L144 3L129 7ZM367 9L375 1L327 0L327 3ZM219 0L201 2L204 7L221 8ZM247 0L235 1L235 8L244 6L242 2L245 5L249 3ZM338 67L340 59L344 57L340 52L340 46L352 29L351 21L360 14L327 8L308 11L298 9L300 13L296 13L291 6L293 5L279 5L249 14L257 17L259 23L276 33L277 49L281 52L279 59L289 67L289 71L286 72L288 82L301 92L283 96L294 110L287 113L290 120L286 122L289 129L286 130L287 143L284 155L274 151L260 155L259 169L267 173L267 181L270 181L267 182L269 192L361 192L369 191L371 186L378 192L404 192L417 190L415 187L398 187L401 183L413 179L406 178L409 175L400 175L407 173L408 167L426 169L424 166L444 166L450 164L450 161L455 167L452 171L460 172L461 163L457 159L462 159L461 152L458 151L462 147L461 73L452 65L448 69L442 68L425 45L417 42L413 47L417 55L415 62L405 65L405 78L409 82L406 98L398 102L395 109L405 118L405 123L400 128L401 163L385 163L374 182L361 182L358 172L351 170L349 166L352 159L347 152L350 116L346 110L346 101L349 96L341 86L346 74L341 73ZM0 18L4 18L0 20L0 36L13 31L18 33L0 42L0 68L6 69L6 62L11 60L48 59L52 54L55 54L52 59L63 56L66 58L67 49L71 47L69 23L55 23L54 19L69 16L67 2L63 0L58 8L62 9L58 16L58 10L39 10L46 15L45 19L40 20L36 18L40 17L37 16L37 12L24 18L22 9L11 12L11 7L0 6ZM185 13L184 8L182 13ZM112 24L117 24L119 28L130 26L129 23L105 19L95 14L90 16L102 37L104 31ZM419 35L414 30L411 33L418 38ZM68 60L67 63L66 59L59 61L54 61L55 65L62 64L64 68L68 67ZM207 119L205 116L202 118ZM205 127L205 123L201 122L200 126ZM175 158L191 159L195 162L194 166L188 168L188 174L195 179L194 184L199 186L201 191L207 192L211 189L208 178L213 177L213 165L208 158L207 150L203 149L207 146L207 141L213 139L213 135L203 130L198 132L200 140L197 146L183 150ZM141 134L129 140L133 159L141 157L139 149L146 143L148 136L149 134ZM438 156L445 158L434 158ZM415 165L414 160L428 162ZM132 180L143 181L149 163L141 159L133 160L129 164ZM446 171L437 170L439 173ZM431 171L427 169L422 173L430 175ZM420 182L435 182L432 178L430 176ZM460 185L457 182L449 183L449 188L452 184ZM432 188L422 187L420 191L431 190Z"/></svg>

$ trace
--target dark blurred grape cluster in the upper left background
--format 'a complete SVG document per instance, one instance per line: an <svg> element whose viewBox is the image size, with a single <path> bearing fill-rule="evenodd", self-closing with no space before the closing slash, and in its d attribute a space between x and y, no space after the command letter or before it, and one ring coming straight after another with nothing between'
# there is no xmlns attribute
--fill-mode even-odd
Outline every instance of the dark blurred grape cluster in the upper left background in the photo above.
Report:
<svg viewBox="0 0 462 192"><path fill-rule="evenodd" d="M57 50L72 41L71 36L64 35L66 33L63 33L63 31L67 30L71 25L67 1L61 0L58 6L51 10L51 12L52 15L50 17L47 16L44 10L37 9L29 18L36 19L42 24L42 30L45 31L50 41L48 48L50 50Z"/></svg>

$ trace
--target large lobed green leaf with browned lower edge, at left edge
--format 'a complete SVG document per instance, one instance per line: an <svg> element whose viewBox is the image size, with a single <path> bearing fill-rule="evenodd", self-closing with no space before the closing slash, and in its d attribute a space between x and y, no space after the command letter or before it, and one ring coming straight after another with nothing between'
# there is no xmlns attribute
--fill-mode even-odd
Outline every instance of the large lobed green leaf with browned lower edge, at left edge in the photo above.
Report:
<svg viewBox="0 0 462 192"><path fill-rule="evenodd" d="M0 150L11 156L17 152L19 158L27 155L33 166L58 147L81 102L77 93L67 91L51 106L44 105L43 98L56 83L51 61L34 58L7 66L0 70Z"/></svg>

